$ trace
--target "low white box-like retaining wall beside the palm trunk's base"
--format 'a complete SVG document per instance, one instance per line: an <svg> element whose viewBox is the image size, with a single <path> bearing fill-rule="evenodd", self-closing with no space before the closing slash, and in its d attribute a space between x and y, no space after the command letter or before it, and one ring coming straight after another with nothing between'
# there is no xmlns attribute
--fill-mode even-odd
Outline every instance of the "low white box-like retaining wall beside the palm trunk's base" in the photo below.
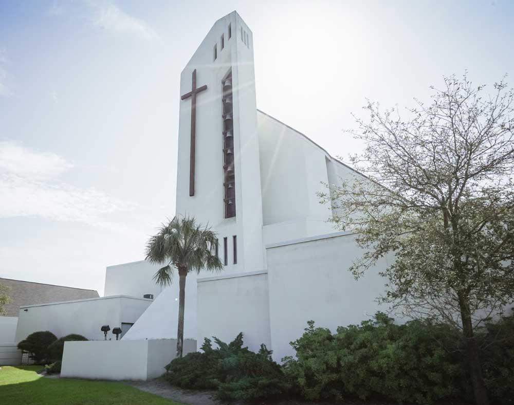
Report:
<svg viewBox="0 0 514 405"><path fill-rule="evenodd" d="M176 339L65 342L61 377L148 380L164 373L175 358ZM196 340L184 340L183 354L196 352Z"/></svg>

